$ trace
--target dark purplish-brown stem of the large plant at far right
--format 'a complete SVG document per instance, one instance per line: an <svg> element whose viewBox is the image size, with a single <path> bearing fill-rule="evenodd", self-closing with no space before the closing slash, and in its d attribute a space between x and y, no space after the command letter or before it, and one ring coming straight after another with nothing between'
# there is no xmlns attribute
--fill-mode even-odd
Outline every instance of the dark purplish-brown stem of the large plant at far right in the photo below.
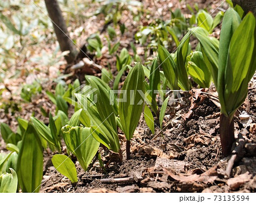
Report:
<svg viewBox="0 0 256 203"><path fill-rule="evenodd" d="M220 114L220 138L222 154L224 157L228 156L232 152L232 145L235 141L234 138L234 118L226 117L224 114Z"/></svg>

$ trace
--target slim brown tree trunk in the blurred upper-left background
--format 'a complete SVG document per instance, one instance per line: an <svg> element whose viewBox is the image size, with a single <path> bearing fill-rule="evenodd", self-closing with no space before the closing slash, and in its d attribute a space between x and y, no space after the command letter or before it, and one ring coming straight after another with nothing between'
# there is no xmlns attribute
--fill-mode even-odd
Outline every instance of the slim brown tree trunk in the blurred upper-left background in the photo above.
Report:
<svg viewBox="0 0 256 203"><path fill-rule="evenodd" d="M65 56L65 60L68 64L71 64L76 59L78 52L72 40L69 39L69 33L59 3L57 0L44 0L44 2L46 3L49 18L52 20L53 28L60 44L60 49L62 52L69 51L69 54Z"/></svg>

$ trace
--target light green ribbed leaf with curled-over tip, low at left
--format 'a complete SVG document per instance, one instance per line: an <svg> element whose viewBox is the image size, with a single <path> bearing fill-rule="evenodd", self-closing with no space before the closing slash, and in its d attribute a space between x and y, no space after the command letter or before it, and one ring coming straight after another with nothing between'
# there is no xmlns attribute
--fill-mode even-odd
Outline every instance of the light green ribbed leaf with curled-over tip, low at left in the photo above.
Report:
<svg viewBox="0 0 256 203"><path fill-rule="evenodd" d="M68 150L77 157L81 167L86 171L100 146L100 143L93 138L91 128L67 125L62 131Z"/></svg>

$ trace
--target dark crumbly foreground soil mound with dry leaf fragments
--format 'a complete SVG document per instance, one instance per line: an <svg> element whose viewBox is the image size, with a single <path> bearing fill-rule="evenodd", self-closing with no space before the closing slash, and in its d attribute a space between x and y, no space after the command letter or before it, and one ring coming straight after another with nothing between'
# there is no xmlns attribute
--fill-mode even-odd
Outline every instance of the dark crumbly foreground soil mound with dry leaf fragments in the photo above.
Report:
<svg viewBox="0 0 256 203"><path fill-rule="evenodd" d="M253 92L249 92L249 99L251 95ZM166 112L168 118L164 120L163 127L169 121L172 120L172 122L162 135L154 140L146 123L141 120L131 142L130 160L125 159L124 153L125 160L122 163L105 159L106 172L100 168L98 161L88 172L84 172L76 162L79 176L76 187L73 187L67 178L61 176L54 167L50 166L44 176L46 179L49 176L49 179L46 184L42 185L41 192L254 192L253 176L235 189L226 184L227 179L224 178L223 173L226 161L222 159L218 134L220 109L210 96L207 96L199 107L193 109L191 118L186 120L177 115L188 112L191 105L189 95L184 96L183 101L186 102L182 107L177 103L168 107ZM174 106L176 106L175 115L173 114ZM255 110L252 109L250 112L254 113L253 111ZM236 118L235 122L238 130L239 119ZM160 130L157 126L155 129L155 134L157 134ZM255 134L250 134L249 142L255 140L255 137ZM125 143L122 143L122 148L124 145ZM235 178L241 173L244 175L247 171L255 173L255 169L250 168L252 164L255 164L255 157L245 156L234 166L232 177ZM209 175L205 183L175 180L166 173L166 170L170 170L176 175L184 174L192 177L199 176L214 167L217 167L217 178ZM239 170L240 172L237 172ZM125 181L118 184L101 183L101 179L137 177L134 174L139 174L141 179L134 178L132 182ZM213 178L214 181L210 181Z"/></svg>

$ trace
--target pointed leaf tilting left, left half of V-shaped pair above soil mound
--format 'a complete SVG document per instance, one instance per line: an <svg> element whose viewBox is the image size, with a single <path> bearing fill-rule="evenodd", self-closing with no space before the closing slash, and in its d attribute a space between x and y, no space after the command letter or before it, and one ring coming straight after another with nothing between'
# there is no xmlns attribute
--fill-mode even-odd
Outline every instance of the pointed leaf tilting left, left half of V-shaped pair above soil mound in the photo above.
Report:
<svg viewBox="0 0 256 203"><path fill-rule="evenodd" d="M158 47L158 57L163 68L164 76L171 85L171 89L179 89L177 85L177 65L171 54L162 45Z"/></svg>

